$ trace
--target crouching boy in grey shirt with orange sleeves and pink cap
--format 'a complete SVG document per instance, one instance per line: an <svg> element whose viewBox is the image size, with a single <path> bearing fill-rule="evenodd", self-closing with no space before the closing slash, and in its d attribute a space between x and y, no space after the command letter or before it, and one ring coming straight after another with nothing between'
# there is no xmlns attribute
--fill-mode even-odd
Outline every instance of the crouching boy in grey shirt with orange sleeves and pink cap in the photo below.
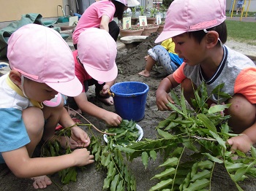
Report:
<svg viewBox="0 0 256 191"><path fill-rule="evenodd" d="M159 110L170 109L166 104L174 102L168 93L179 84L192 106L193 88L205 82L209 106L231 104L225 114L230 115L230 128L239 134L227 140L231 150L248 152L256 143L256 67L245 55L223 45L227 40L225 5L225 0L176 0L170 4L156 42L173 38L184 63L160 83L157 106ZM223 83L220 91L232 98L212 94Z"/></svg>

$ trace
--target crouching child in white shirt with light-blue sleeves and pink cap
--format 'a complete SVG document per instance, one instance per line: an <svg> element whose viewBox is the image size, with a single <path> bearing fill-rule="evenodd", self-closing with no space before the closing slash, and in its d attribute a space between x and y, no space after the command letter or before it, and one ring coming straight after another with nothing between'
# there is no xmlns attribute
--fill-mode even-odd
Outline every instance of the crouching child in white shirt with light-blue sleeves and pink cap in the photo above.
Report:
<svg viewBox="0 0 256 191"><path fill-rule="evenodd" d="M28 24L10 36L7 58L11 71L0 77L0 163L15 176L34 179L36 189L51 184L45 174L93 163L86 148L75 149L87 147L90 139L75 125L60 95L82 91L67 43L53 29ZM51 99L55 104L45 106ZM58 123L65 128L74 125L70 139L54 136ZM53 139L75 150L58 157L31 157L39 141Z"/></svg>

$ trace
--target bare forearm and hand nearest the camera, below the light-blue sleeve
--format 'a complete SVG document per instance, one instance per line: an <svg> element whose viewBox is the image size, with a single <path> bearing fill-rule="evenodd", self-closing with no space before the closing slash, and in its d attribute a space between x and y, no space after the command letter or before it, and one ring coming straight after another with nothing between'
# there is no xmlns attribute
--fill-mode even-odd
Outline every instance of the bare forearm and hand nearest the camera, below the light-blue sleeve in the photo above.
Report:
<svg viewBox="0 0 256 191"><path fill-rule="evenodd" d="M58 157L30 158L26 147L1 154L13 174L20 178L53 174L64 168L94 163L94 156L87 149L75 149L71 154Z"/></svg>

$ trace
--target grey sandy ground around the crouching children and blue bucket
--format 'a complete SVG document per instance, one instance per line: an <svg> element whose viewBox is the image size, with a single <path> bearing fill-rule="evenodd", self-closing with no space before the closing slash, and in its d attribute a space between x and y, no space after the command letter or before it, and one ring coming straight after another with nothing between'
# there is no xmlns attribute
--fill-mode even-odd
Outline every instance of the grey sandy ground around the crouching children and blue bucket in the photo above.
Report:
<svg viewBox="0 0 256 191"><path fill-rule="evenodd" d="M116 63L118 65L118 77L116 82L124 81L137 81L145 82L149 86L149 91L146 99L145 117L138 124L143 128L144 137L148 139L156 139L157 132L154 129L157 124L164 120L169 112L157 111L155 104L155 92L157 86L163 77L166 76L161 67L154 68L151 72L151 77L141 77L138 72L145 67L144 56L147 54L147 50L154 47L154 39L157 34L152 34L146 39L145 42L138 44L131 49L118 50ZM256 55L255 47L247 46L247 44L241 44L236 42L227 42L227 45L235 50L244 52L244 54ZM242 48L241 48L242 47ZM239 50L240 49L240 50ZM253 57L252 57L253 58ZM177 93L180 91L176 89ZM94 90L90 88L89 100L102 108L115 112L114 106L105 106L101 102L94 98ZM97 128L104 130L106 125L103 121L97 120L94 117L90 117L87 114L83 114L89 121L91 121ZM88 130L85 126L82 126L85 130ZM96 131L94 131L96 133ZM162 158L158 157L156 162L150 162L148 168L145 170L140 158L133 160L129 163L129 168L135 175L137 180L137 190L144 191L149 190L157 182L150 180L152 176L157 173L157 166L162 163ZM105 179L104 171L97 171L95 164L86 166L85 171L78 171L77 182L71 182L67 185L61 184L58 174L51 175L53 184L45 190L102 190L103 180ZM256 190L256 179L246 179L241 182L241 187L244 190ZM32 181L30 179L18 179L16 178L6 165L0 165L0 190L16 191L16 190L34 190L32 187ZM213 181L211 184L211 190L237 190L233 182L230 181L227 172L221 165L217 165L215 168Z"/></svg>

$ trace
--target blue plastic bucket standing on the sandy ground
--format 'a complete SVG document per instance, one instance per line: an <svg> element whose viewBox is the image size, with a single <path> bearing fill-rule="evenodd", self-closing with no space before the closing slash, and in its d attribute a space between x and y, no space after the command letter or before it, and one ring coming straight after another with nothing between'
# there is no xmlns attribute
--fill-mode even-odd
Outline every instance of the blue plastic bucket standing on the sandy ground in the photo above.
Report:
<svg viewBox="0 0 256 191"><path fill-rule="evenodd" d="M148 85L142 82L119 82L112 85L110 92L116 113L124 120L142 120L148 89Z"/></svg>

